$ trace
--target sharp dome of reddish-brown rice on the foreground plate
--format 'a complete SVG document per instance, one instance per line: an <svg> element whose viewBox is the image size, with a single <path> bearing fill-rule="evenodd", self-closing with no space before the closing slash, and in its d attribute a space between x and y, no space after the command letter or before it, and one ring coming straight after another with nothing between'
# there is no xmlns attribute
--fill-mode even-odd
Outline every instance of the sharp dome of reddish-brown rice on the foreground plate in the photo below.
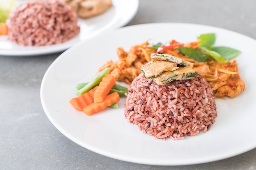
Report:
<svg viewBox="0 0 256 170"><path fill-rule="evenodd" d="M176 140L208 131L217 110L213 90L200 75L157 85L141 73L128 89L124 114L144 134Z"/></svg>

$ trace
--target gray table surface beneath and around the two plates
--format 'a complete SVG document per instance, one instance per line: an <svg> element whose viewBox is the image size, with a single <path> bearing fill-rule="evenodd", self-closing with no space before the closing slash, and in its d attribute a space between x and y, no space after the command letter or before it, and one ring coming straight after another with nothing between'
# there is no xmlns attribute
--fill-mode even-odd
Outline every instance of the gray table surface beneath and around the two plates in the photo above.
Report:
<svg viewBox="0 0 256 170"><path fill-rule="evenodd" d="M255 0L139 0L127 26L205 24L256 39L255 7ZM72 142L52 125L40 102L42 78L60 54L0 56L0 169L256 170L256 148L210 163L150 166L105 157Z"/></svg>

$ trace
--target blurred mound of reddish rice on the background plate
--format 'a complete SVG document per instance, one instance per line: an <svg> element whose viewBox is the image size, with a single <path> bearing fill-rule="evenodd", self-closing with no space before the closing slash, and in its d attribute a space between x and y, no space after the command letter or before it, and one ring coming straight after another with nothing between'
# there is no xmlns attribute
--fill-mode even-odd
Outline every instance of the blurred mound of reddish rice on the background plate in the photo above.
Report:
<svg viewBox="0 0 256 170"><path fill-rule="evenodd" d="M24 46L60 44L79 34L77 19L72 8L59 0L24 2L9 15L8 39Z"/></svg>

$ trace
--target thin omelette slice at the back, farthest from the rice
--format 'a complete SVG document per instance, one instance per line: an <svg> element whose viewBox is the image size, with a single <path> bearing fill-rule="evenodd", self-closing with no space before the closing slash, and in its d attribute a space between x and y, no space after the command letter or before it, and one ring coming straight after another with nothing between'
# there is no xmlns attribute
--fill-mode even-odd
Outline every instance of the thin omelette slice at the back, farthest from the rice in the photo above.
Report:
<svg viewBox="0 0 256 170"><path fill-rule="evenodd" d="M173 63L177 63L177 64L183 65L185 67L190 67L190 68L192 68L194 65L193 63L191 63L189 61L180 59L178 57L175 57L175 56L169 55L169 54L151 53L150 57L151 57L151 60L153 60L153 61L171 61Z"/></svg>

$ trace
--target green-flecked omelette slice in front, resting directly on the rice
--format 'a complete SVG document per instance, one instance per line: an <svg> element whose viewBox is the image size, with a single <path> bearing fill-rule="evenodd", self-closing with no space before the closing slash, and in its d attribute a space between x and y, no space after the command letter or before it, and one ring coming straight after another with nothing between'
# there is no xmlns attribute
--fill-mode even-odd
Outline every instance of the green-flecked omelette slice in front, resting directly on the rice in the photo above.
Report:
<svg viewBox="0 0 256 170"><path fill-rule="evenodd" d="M152 77L152 80L159 84L164 85L175 80L187 80L198 76L198 72L189 67L181 67L174 71L166 71L157 77Z"/></svg>

